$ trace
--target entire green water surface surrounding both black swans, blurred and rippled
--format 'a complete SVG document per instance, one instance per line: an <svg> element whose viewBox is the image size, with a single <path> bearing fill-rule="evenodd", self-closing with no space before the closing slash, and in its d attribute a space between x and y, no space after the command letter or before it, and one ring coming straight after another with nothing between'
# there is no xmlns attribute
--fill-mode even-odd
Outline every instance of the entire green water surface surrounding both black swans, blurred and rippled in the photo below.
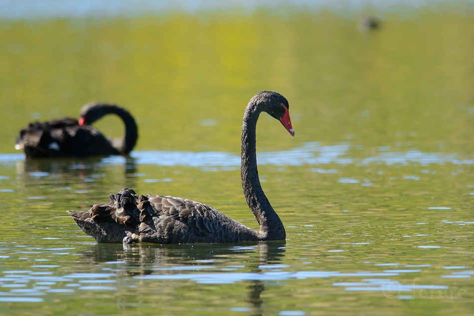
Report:
<svg viewBox="0 0 474 316"><path fill-rule="evenodd" d="M472 314L474 8L377 14L371 31L328 10L0 21L0 315ZM258 122L285 242L98 245L66 214L131 187L257 228L238 154L264 89L296 133ZM132 158L7 155L91 101L130 109Z"/></svg>

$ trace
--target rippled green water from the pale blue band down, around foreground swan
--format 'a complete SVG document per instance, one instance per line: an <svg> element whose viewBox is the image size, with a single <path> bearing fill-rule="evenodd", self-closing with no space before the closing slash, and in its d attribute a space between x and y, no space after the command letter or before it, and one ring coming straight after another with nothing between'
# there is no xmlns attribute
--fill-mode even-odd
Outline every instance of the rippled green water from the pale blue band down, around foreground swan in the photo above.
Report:
<svg viewBox="0 0 474 316"><path fill-rule="evenodd" d="M259 153L262 185L285 224L285 242L125 247L96 244L65 210L106 202L128 184L140 193L186 194L255 227L241 196L238 157L135 151L127 159L24 161L1 155L3 312L470 313L472 160L386 148L359 159L351 148L308 143Z"/></svg>

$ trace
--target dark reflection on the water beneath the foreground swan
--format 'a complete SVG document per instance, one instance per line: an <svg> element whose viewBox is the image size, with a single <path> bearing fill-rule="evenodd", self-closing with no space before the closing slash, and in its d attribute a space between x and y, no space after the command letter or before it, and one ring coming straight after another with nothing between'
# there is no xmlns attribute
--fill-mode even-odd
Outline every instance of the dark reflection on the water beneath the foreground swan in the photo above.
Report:
<svg viewBox="0 0 474 316"><path fill-rule="evenodd" d="M123 250L121 249L123 247ZM135 276L135 279L148 277L163 277L165 279L196 279L197 283L220 284L243 282L247 285L246 302L248 315L262 315L263 300L261 293L265 290L264 283L258 278L265 267L279 267L278 262L284 257L285 241L232 244L194 244L194 245L110 245L96 244L95 249L86 254L81 260L87 264L126 263L129 268L121 271L126 276ZM238 273L220 273L218 279L208 279L206 270L216 270L210 266L214 261L223 257L238 254L245 256L245 268L253 276L241 278ZM255 256L257 254L257 256ZM193 264L190 265L190 262ZM138 264L138 271L136 270ZM171 266L171 267L170 267ZM128 270L130 269L130 270ZM232 269L232 268L230 268ZM267 269L267 268L266 268ZM186 273L188 271L204 271L201 273ZM186 274L185 274L186 273ZM214 275L214 274L213 274ZM237 279L234 277L237 276Z"/></svg>

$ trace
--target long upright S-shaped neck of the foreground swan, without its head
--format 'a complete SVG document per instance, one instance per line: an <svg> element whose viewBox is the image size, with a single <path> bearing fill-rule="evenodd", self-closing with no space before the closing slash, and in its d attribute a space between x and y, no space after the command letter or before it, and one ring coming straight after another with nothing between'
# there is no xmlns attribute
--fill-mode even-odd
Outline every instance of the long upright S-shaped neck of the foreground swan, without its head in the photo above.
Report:
<svg viewBox="0 0 474 316"><path fill-rule="evenodd" d="M286 236L285 229L268 202L258 179L255 129L261 112L258 104L252 103L252 101L245 109L242 125L240 176L245 200L260 225L259 237L264 240L281 240Z"/></svg>

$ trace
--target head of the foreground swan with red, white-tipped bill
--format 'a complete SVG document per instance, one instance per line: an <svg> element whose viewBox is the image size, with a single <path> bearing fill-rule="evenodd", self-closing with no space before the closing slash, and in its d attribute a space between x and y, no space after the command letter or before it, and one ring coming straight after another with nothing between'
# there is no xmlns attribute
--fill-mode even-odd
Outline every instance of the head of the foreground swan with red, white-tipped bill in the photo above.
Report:
<svg viewBox="0 0 474 316"><path fill-rule="evenodd" d="M283 127L294 136L294 129L291 126L288 100L281 94L274 91L260 91L252 100L262 107L262 110L279 120Z"/></svg>

